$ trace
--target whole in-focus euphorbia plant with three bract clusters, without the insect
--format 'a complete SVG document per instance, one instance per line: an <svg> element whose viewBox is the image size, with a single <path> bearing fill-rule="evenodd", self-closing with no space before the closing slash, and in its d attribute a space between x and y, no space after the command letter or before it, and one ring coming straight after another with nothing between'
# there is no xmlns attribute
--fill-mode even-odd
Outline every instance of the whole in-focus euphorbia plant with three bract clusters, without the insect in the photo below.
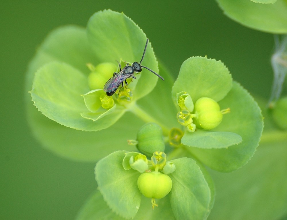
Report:
<svg viewBox="0 0 287 220"><path fill-rule="evenodd" d="M215 190L205 166L234 171L258 145L261 110L221 61L188 58L174 82L149 43L143 63L165 81L143 70L106 96L115 60L139 62L146 39L123 13L100 11L86 29L51 33L31 62L27 88L42 113L28 106L34 134L62 156L99 160L101 195L78 219L206 219Z"/></svg>

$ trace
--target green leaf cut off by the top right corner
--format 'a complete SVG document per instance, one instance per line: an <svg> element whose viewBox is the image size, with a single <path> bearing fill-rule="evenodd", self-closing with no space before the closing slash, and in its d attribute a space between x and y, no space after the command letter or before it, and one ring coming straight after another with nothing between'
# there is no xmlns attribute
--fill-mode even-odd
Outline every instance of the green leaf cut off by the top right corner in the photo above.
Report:
<svg viewBox="0 0 287 220"><path fill-rule="evenodd" d="M258 4L246 0L217 0L224 14L247 27L270 33L287 33L287 4L285 0L261 0ZM259 0L257 0L259 2Z"/></svg>

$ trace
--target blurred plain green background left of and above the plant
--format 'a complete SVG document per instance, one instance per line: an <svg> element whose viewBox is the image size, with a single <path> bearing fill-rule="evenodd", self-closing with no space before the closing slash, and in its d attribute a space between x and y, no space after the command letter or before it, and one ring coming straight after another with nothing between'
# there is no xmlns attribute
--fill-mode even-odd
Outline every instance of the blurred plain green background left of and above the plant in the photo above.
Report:
<svg viewBox="0 0 287 220"><path fill-rule="evenodd" d="M123 11L135 21L174 77L184 60L206 55L224 62L234 80L253 95L267 99L270 94L273 35L228 19L213 0L3 1L0 219L73 219L96 189L94 163L60 158L32 137L24 80L29 61L49 31L66 24L86 26L89 17L103 9Z"/></svg>

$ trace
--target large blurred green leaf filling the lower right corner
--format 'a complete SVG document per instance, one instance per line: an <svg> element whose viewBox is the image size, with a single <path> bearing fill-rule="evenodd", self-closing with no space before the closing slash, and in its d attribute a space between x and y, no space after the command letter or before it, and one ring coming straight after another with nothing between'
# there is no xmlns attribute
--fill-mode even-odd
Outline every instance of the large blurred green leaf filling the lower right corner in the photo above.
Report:
<svg viewBox="0 0 287 220"><path fill-rule="evenodd" d="M212 172L217 196L208 219L276 220L286 215L287 132L281 137L276 132L263 132L252 160L241 169Z"/></svg>

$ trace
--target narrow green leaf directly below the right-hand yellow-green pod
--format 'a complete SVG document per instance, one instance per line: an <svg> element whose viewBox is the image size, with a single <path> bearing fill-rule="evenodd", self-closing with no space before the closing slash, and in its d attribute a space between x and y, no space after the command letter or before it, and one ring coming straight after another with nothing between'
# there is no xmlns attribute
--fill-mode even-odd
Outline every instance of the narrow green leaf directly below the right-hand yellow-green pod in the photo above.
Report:
<svg viewBox="0 0 287 220"><path fill-rule="evenodd" d="M227 148L242 141L240 135L233 132L210 131L198 129L196 132L186 131L181 143L198 148Z"/></svg>

